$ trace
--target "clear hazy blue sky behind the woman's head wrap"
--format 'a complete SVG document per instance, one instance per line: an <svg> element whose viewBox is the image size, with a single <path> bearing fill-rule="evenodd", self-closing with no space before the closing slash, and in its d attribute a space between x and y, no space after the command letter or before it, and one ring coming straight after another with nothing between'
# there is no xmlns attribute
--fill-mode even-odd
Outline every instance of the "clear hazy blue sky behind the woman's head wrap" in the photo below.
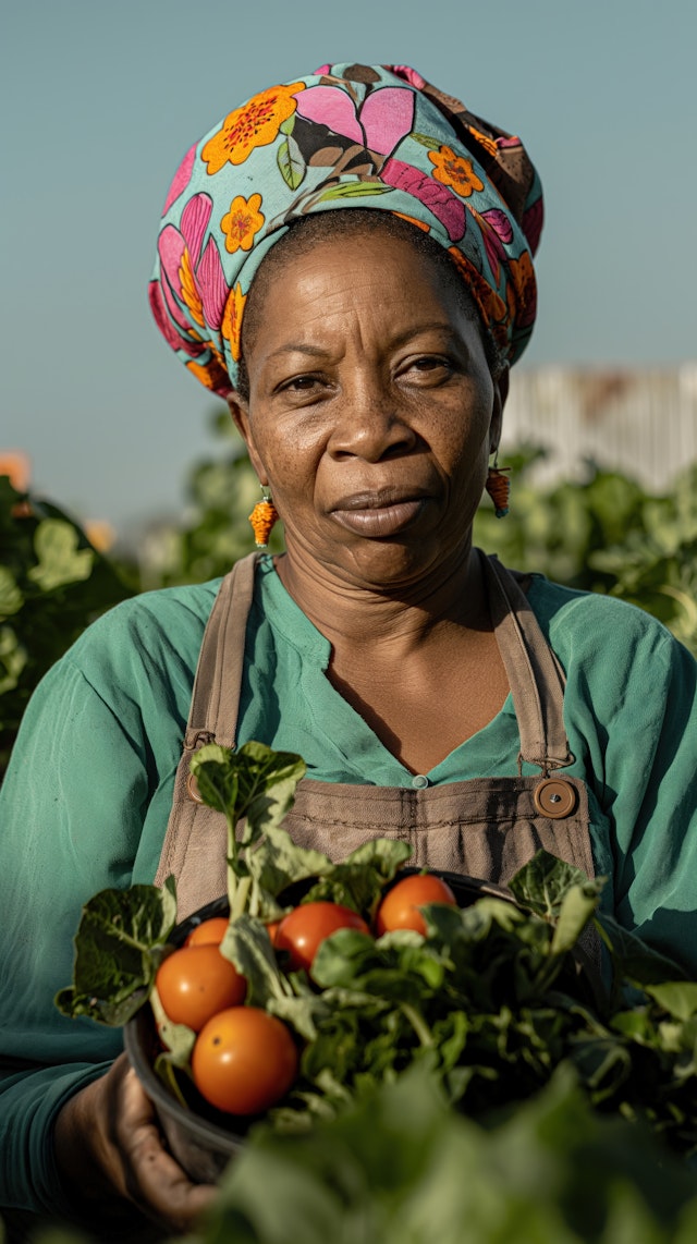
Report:
<svg viewBox="0 0 697 1244"><path fill-rule="evenodd" d="M519 133L545 188L520 366L697 356L693 0L21 0L1 24L0 449L123 529L185 504L212 403L151 323L192 142L325 61L407 63Z"/></svg>

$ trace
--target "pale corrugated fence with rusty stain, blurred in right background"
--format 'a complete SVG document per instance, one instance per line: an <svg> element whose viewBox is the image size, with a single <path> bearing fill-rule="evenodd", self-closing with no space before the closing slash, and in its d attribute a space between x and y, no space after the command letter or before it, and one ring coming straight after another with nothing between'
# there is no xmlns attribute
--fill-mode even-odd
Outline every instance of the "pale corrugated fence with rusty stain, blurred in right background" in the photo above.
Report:
<svg viewBox="0 0 697 1244"><path fill-rule="evenodd" d="M540 481L579 478L592 459L662 491L697 462L697 362L646 371L514 368L499 462L507 445L522 442L549 450Z"/></svg>

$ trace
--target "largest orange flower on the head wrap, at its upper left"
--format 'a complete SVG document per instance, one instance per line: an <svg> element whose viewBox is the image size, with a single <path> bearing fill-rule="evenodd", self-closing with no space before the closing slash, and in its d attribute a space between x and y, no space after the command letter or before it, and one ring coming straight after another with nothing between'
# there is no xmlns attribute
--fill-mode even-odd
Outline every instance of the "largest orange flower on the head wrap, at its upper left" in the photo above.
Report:
<svg viewBox="0 0 697 1244"><path fill-rule="evenodd" d="M304 90L304 82L273 86L228 113L222 128L208 139L200 153L209 177L219 173L228 160L230 164L244 164L255 147L273 143L284 121L295 112L294 96Z"/></svg>

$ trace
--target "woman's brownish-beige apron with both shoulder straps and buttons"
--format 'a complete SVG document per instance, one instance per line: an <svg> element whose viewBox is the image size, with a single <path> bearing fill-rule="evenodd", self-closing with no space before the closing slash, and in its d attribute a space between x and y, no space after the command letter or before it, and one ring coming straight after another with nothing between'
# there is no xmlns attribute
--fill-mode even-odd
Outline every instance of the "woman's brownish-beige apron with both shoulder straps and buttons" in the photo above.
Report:
<svg viewBox="0 0 697 1244"><path fill-rule="evenodd" d="M285 826L304 847L340 860L372 837L412 847L412 863L505 884L545 847L594 876L584 782L560 778L574 760L564 729L564 675L514 576L479 554L497 643L520 731L519 776L429 786L362 786L304 779ZM227 827L197 799L189 761L204 743L235 746L246 620L258 555L223 580L199 656L184 749L156 876L177 878L184 919L225 893ZM523 761L540 773L520 776Z"/></svg>

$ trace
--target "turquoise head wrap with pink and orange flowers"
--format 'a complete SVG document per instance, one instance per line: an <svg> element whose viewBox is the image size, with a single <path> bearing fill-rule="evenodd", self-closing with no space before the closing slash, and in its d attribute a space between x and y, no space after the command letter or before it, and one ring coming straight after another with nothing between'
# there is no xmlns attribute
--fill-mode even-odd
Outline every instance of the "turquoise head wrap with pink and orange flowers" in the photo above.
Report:
<svg viewBox="0 0 697 1244"><path fill-rule="evenodd" d="M392 211L444 246L510 362L535 318L538 174L519 138L405 65L324 65L230 112L164 204L149 286L161 332L207 388L236 387L244 304L290 221Z"/></svg>

